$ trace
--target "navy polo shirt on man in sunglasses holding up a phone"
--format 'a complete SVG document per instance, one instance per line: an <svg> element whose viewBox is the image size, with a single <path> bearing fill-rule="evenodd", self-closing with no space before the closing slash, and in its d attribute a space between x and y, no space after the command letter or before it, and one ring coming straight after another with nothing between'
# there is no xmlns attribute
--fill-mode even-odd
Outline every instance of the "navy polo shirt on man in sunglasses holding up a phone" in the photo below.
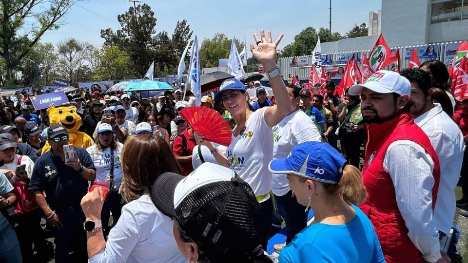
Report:
<svg viewBox="0 0 468 263"><path fill-rule="evenodd" d="M96 170L86 150L75 147L75 153L83 167ZM49 150L34 164L29 191L45 191L52 210L79 207L81 198L88 192L88 181Z"/></svg>

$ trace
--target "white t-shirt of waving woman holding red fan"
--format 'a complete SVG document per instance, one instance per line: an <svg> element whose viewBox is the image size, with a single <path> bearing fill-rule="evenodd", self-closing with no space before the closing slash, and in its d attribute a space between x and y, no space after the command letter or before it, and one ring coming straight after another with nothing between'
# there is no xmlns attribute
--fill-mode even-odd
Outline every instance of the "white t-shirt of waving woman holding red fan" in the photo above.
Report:
<svg viewBox="0 0 468 263"><path fill-rule="evenodd" d="M273 159L273 131L265 121L264 113L267 109L258 109L252 113L247 119L245 130L233 137L226 150L230 168L249 183L257 197L270 192L272 181L268 164Z"/></svg>

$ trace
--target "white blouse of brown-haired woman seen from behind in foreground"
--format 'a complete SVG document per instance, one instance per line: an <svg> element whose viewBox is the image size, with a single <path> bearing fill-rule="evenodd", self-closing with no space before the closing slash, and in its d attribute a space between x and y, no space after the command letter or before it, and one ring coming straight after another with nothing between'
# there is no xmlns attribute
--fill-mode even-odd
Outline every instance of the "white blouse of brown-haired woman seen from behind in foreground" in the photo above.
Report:
<svg viewBox="0 0 468 263"><path fill-rule="evenodd" d="M180 254L169 217L163 215L148 194L122 207L111 229L106 248L90 263L186 263Z"/></svg>

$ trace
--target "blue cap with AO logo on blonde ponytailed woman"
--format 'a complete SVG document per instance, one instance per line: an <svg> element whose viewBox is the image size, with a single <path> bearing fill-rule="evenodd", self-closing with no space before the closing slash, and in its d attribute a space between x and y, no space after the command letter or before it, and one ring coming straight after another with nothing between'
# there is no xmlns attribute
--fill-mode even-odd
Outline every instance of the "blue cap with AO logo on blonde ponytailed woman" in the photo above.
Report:
<svg viewBox="0 0 468 263"><path fill-rule="evenodd" d="M305 142L294 148L285 159L270 162L272 173L292 173L313 181L336 184L340 181L346 159L330 144Z"/></svg>

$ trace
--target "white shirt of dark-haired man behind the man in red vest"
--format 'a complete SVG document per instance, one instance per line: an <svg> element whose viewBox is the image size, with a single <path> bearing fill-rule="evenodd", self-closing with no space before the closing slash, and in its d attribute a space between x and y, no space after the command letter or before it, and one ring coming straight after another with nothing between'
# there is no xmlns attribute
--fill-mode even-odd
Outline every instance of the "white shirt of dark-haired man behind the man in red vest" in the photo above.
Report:
<svg viewBox="0 0 468 263"><path fill-rule="evenodd" d="M439 157L440 184L434 218L437 228L448 234L455 216L455 187L460 178L465 144L463 134L440 104L414 119L428 135Z"/></svg>

